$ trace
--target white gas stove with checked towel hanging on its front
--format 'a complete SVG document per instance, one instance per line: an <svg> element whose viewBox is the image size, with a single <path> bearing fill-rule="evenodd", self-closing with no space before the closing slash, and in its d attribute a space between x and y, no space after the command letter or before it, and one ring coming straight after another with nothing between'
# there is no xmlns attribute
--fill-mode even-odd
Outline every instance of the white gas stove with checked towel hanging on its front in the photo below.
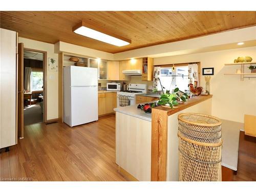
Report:
<svg viewBox="0 0 256 192"><path fill-rule="evenodd" d="M139 93L146 93L146 84L129 84L129 90L128 91L119 91L117 92L117 107L120 107L119 105L119 96L126 96L129 98L129 105L134 105L136 101L136 94Z"/></svg>

